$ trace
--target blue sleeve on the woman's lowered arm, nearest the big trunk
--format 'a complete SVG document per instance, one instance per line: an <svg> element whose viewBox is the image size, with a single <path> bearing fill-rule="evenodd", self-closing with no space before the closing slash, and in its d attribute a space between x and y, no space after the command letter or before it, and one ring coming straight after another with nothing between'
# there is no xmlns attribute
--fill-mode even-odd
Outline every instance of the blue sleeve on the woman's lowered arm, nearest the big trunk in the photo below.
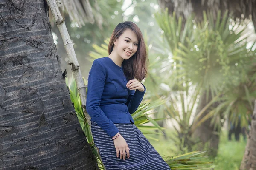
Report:
<svg viewBox="0 0 256 170"><path fill-rule="evenodd" d="M105 132L112 138L119 132L119 130L100 108L105 79L105 69L99 61L94 60L88 77L86 110L99 127L105 130Z"/></svg>

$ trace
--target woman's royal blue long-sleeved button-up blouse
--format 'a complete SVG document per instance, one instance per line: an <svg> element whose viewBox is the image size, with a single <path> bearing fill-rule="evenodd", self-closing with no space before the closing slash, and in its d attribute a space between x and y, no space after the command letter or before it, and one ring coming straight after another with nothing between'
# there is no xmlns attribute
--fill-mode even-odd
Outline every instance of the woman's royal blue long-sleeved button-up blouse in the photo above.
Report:
<svg viewBox="0 0 256 170"><path fill-rule="evenodd" d="M95 59L89 71L86 110L112 138L119 132L113 123L134 123L131 114L137 110L145 91L129 90L122 67L109 57Z"/></svg>

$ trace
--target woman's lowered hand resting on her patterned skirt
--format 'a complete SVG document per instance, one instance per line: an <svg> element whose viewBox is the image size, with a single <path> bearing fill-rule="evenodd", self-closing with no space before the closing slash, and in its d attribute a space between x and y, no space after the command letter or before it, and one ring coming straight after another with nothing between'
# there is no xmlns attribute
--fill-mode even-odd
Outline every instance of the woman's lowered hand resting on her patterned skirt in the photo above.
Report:
<svg viewBox="0 0 256 170"><path fill-rule="evenodd" d="M125 151L127 153L127 158L130 158L130 149L128 147L128 144L126 143L125 139L122 137L122 135L120 134L119 136L116 137L116 139L114 139L114 144L116 147L116 156L118 158L119 153L120 153L120 159L124 159L125 160Z"/></svg>

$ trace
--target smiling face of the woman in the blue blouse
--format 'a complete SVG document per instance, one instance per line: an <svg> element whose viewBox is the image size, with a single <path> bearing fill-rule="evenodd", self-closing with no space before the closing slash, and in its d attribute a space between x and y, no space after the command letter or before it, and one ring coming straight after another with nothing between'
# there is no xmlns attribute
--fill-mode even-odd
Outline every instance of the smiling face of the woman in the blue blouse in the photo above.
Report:
<svg viewBox="0 0 256 170"><path fill-rule="evenodd" d="M116 39L114 45L116 45L116 52L120 57L129 59L138 49L138 39L131 29L127 29L118 39Z"/></svg>

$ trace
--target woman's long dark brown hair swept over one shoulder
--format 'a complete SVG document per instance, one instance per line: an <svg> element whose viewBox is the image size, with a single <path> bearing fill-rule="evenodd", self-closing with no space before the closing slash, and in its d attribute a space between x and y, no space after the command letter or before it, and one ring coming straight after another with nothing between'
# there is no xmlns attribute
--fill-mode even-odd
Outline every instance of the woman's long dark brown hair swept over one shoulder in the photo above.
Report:
<svg viewBox="0 0 256 170"><path fill-rule="evenodd" d="M122 62L122 67L127 79L135 78L141 82L141 80L145 79L148 74L148 57L143 35L140 31L140 28L135 23L131 21L125 21L123 23L119 23L116 26L108 44L108 54L111 54L113 51L115 40L119 38L127 29L131 29L131 31L136 34L138 39L138 49L131 58Z"/></svg>

